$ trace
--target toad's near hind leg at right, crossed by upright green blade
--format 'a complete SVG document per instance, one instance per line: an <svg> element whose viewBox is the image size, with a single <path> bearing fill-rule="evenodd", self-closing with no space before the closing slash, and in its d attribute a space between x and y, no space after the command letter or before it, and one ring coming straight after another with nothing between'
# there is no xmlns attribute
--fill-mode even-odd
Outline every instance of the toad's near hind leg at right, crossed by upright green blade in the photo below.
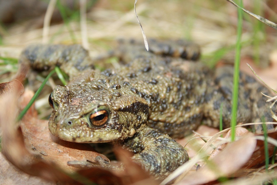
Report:
<svg viewBox="0 0 277 185"><path fill-rule="evenodd" d="M219 126L220 106L222 105L223 127L230 127L233 91L233 68L222 67L216 70L214 81L206 93L204 108L204 123L213 127ZM266 103L264 94L269 90L258 83L251 76L240 73L237 123L273 121L270 113L270 104ZM273 110L276 112L276 110Z"/></svg>

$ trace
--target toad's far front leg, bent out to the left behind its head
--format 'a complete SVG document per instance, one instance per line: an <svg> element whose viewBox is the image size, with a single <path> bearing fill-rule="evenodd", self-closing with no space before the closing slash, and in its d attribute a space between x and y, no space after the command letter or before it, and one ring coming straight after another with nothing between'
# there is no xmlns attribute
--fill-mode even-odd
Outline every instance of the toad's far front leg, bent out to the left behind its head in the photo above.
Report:
<svg viewBox="0 0 277 185"><path fill-rule="evenodd" d="M31 67L45 71L59 66L70 79L86 69L93 69L93 62L87 50L81 45L33 44L20 55L22 69Z"/></svg>

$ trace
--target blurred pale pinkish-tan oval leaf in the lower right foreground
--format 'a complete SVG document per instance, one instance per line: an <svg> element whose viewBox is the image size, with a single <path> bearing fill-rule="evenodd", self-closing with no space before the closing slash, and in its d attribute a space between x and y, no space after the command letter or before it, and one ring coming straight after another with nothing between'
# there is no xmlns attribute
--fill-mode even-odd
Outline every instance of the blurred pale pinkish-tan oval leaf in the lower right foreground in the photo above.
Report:
<svg viewBox="0 0 277 185"><path fill-rule="evenodd" d="M216 155L204 167L185 176L178 184L204 184L222 176L230 176L247 162L255 146L256 139L253 134L249 133L240 140L229 143L222 152Z"/></svg>

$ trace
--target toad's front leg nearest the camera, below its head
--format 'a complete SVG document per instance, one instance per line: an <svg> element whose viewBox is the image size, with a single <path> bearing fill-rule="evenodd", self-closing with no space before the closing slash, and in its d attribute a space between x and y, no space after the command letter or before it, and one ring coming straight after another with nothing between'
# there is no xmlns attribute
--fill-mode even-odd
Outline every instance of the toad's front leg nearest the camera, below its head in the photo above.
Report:
<svg viewBox="0 0 277 185"><path fill-rule="evenodd" d="M135 152L132 159L159 179L167 177L189 159L184 147L149 127L125 140L124 147Z"/></svg>

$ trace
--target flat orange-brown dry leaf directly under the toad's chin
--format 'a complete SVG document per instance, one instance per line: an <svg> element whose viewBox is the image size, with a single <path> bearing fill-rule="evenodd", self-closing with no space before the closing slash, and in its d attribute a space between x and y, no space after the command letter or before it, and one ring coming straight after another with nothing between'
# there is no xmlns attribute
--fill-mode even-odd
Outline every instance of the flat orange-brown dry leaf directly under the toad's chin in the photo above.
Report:
<svg viewBox="0 0 277 185"><path fill-rule="evenodd" d="M95 157L99 155L109 160L106 156L93 152L88 144L66 142L51 135L46 120L31 118L29 121L22 122L21 128L26 147L36 151L43 160L55 162L65 171L77 170L75 167L68 166L68 161L96 162Z"/></svg>

